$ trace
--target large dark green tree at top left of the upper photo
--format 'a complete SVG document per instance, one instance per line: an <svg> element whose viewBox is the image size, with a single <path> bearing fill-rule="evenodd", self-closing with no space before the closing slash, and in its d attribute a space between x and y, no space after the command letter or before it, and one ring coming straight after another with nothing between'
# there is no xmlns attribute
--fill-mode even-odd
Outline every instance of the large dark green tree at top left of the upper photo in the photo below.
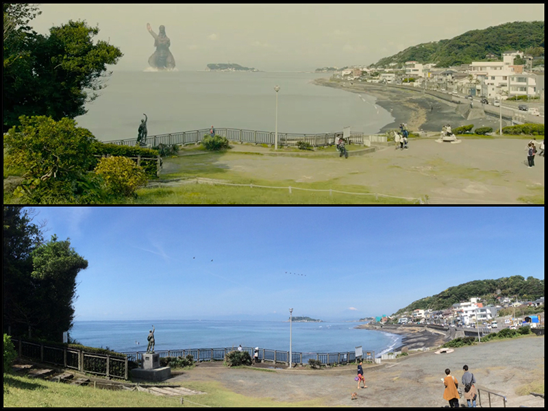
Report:
<svg viewBox="0 0 548 411"><path fill-rule="evenodd" d="M103 77L112 73L106 64L116 64L123 55L103 40L94 44L99 28L85 21L51 27L49 36L32 32L26 23L36 14L32 8L4 5L4 132L21 115L60 120L85 114L84 104L97 98L105 87Z"/></svg>

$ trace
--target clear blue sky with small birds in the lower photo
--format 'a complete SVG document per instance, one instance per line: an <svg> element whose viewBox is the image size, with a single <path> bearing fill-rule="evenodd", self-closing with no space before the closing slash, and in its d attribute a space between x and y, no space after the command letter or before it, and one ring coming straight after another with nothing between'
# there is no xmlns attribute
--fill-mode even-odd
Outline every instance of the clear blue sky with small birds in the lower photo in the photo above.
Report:
<svg viewBox="0 0 548 411"><path fill-rule="evenodd" d="M38 207L88 260L75 320L353 320L544 279L544 208Z"/></svg>

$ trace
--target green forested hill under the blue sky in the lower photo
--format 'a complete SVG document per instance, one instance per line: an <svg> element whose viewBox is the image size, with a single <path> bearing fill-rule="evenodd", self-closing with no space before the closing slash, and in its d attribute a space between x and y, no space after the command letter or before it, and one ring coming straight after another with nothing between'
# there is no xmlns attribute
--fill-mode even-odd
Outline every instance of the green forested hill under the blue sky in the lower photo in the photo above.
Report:
<svg viewBox="0 0 548 411"><path fill-rule="evenodd" d="M470 301L479 297L482 303L495 303L497 297L514 297L535 300L544 297L544 279L523 278L521 275L499 279L478 279L475 281L449 287L432 297L425 297L410 303L409 306L395 312L396 315L412 310L444 310L453 304Z"/></svg>

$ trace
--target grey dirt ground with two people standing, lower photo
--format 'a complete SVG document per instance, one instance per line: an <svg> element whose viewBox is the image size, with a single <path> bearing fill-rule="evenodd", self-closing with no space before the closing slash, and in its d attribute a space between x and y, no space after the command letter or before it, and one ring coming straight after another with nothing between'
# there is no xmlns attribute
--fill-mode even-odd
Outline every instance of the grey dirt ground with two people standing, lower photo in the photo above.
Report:
<svg viewBox="0 0 548 411"><path fill-rule="evenodd" d="M225 388L247 397L268 397L275 401L305 401L321 398L324 406L357 407L443 407L445 369L460 381L462 366L468 364L477 387L505 395L507 406L544 407L544 399L519 396L516 389L531 382L544 382L544 337L531 336L461 347L453 353L434 351L412 354L401 360L364 367L368 388L357 389L356 366L304 370L229 369L220 362L203 363L167 380L169 384L188 381L218 381ZM272 366L265 364L263 366ZM278 366L278 364L277 364ZM351 393L358 399L351 400ZM481 392L483 406L487 393ZM464 400L460 400L461 406ZM493 406L503 406L500 397L491 397ZM478 404L479 406L479 404Z"/></svg>

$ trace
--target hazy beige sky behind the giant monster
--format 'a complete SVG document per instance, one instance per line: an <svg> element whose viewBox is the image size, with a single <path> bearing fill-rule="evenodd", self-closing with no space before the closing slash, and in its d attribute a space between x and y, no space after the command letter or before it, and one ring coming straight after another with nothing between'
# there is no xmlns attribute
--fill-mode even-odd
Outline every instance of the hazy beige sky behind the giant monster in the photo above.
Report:
<svg viewBox="0 0 548 411"><path fill-rule="evenodd" d="M262 71L371 64L421 42L510 21L544 19L544 4L42 4L42 34L69 19L99 25L124 57L116 69L147 68L150 23L166 26L177 68L237 63Z"/></svg>

